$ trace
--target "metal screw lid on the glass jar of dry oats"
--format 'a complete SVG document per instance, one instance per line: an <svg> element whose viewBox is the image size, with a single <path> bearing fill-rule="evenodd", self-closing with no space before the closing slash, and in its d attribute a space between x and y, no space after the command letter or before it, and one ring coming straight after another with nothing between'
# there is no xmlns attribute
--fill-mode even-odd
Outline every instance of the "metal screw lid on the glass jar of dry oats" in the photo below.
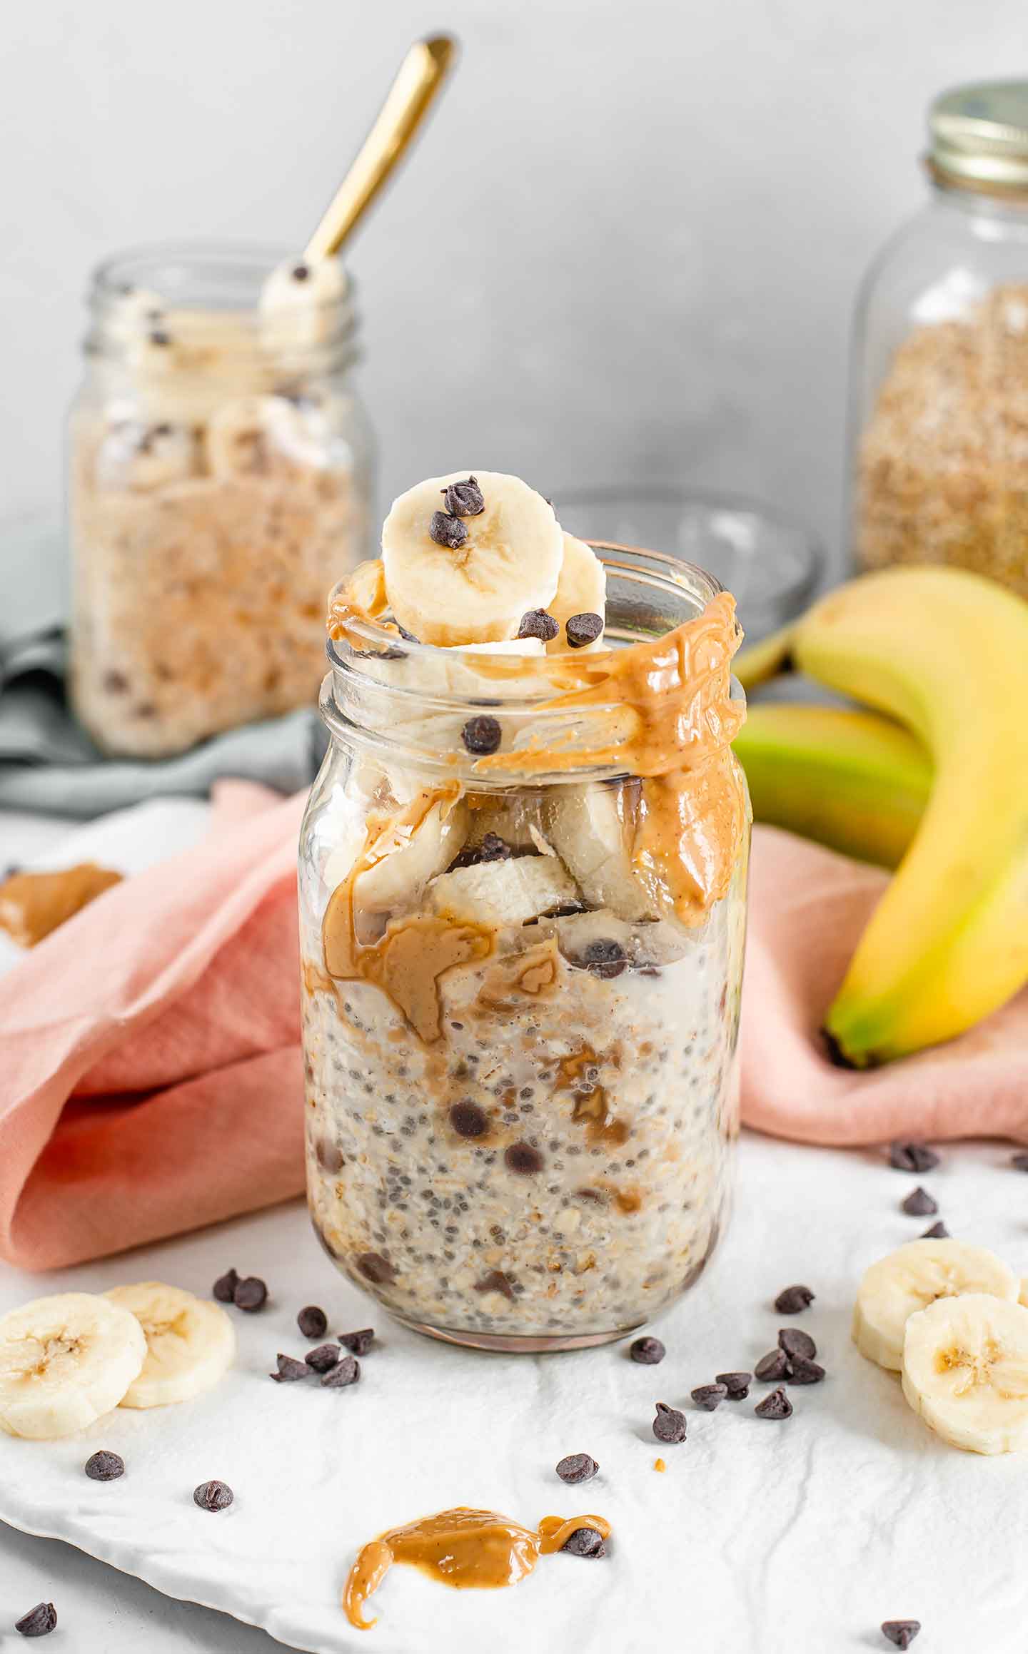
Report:
<svg viewBox="0 0 1028 1654"><path fill-rule="evenodd" d="M978 81L929 109L929 165L957 189L1028 190L1028 81Z"/></svg>

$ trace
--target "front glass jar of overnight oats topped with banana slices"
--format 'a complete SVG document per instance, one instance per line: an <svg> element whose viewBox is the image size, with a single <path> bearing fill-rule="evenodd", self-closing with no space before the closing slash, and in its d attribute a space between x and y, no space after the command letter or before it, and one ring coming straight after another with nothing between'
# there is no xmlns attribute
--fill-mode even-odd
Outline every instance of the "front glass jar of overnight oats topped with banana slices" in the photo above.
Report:
<svg viewBox="0 0 1028 1654"><path fill-rule="evenodd" d="M308 1189L457 1343L604 1343L730 1196L750 810L733 599L518 478L402 495L336 587L300 855Z"/></svg>

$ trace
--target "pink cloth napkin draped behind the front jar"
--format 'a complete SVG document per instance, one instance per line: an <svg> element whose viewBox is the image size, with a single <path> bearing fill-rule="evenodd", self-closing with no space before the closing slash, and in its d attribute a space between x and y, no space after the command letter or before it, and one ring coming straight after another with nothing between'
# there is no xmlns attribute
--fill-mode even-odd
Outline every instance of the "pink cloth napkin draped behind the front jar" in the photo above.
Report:
<svg viewBox="0 0 1028 1654"><path fill-rule="evenodd" d="M296 1194L303 799L217 796L202 845L106 892L0 981L0 1254L53 1269ZM954 1044L833 1068L818 1025L886 875L753 840L743 1116L811 1143L1028 1140L1028 994Z"/></svg>

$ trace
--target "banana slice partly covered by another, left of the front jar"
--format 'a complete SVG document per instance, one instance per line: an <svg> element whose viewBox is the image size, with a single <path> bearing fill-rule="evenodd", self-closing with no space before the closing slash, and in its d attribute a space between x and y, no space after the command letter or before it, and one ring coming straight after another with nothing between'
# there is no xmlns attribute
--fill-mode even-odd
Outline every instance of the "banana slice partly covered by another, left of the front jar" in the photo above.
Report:
<svg viewBox="0 0 1028 1654"><path fill-rule="evenodd" d="M142 1280L113 1287L104 1298L136 1317L146 1340L142 1371L122 1408L164 1408L212 1389L235 1360L235 1327L225 1312L192 1292Z"/></svg>

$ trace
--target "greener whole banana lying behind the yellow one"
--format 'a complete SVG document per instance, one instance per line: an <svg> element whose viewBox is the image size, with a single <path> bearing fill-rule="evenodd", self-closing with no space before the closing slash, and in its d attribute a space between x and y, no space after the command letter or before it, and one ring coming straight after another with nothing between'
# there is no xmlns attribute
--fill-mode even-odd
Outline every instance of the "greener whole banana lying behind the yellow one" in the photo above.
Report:
<svg viewBox="0 0 1028 1654"><path fill-rule="evenodd" d="M877 713L752 706L735 738L753 819L861 862L897 867L932 789L914 736Z"/></svg>

